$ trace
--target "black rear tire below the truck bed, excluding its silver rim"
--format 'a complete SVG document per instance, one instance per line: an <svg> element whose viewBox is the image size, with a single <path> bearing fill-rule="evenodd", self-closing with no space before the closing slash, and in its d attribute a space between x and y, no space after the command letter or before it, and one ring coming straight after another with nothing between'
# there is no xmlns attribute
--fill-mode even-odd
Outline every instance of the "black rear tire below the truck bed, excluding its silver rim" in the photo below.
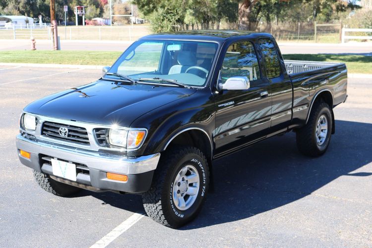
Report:
<svg viewBox="0 0 372 248"><path fill-rule="evenodd" d="M332 133L332 113L331 108L323 100L319 100L312 106L308 123L297 130L296 141L299 151L310 157L318 157L325 153L331 140ZM316 140L316 127L319 118L325 117L327 121L327 134L322 144Z"/></svg>

